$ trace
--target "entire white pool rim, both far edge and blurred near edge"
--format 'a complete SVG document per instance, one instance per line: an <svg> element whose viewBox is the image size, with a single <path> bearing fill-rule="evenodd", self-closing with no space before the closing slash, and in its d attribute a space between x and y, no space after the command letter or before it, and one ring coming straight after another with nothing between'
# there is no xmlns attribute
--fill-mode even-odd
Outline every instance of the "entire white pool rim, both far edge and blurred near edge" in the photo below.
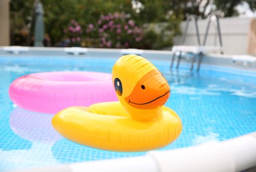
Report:
<svg viewBox="0 0 256 172"><path fill-rule="evenodd" d="M119 58L137 54L148 59L168 60L171 51L98 48L30 48L0 47L0 56L81 56ZM221 65L256 71L256 58L208 54L202 64ZM189 58L186 59L187 62ZM190 62L188 62L190 63ZM200 146L168 151L149 151L140 157L126 157L84 163L72 163L20 171L256 171L256 131L224 142L207 142Z"/></svg>

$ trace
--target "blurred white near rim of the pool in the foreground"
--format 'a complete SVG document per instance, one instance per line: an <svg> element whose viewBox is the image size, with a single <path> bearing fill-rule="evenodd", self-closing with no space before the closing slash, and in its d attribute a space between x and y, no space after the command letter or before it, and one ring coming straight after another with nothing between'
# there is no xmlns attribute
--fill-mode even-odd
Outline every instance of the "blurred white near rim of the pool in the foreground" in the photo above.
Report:
<svg viewBox="0 0 256 172"><path fill-rule="evenodd" d="M207 142L200 146L168 151L149 151L140 157L126 157L85 163L72 163L25 172L233 172L256 170L256 132L225 142Z"/></svg>

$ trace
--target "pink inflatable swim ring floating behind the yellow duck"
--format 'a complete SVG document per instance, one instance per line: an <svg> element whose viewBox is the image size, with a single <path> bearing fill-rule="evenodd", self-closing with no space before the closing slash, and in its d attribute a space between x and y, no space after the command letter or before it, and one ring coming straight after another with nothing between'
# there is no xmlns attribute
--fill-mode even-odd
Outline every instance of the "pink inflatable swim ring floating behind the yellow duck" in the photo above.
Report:
<svg viewBox="0 0 256 172"><path fill-rule="evenodd" d="M111 74L88 71L25 75L11 83L9 96L21 108L50 114L66 107L117 101Z"/></svg>

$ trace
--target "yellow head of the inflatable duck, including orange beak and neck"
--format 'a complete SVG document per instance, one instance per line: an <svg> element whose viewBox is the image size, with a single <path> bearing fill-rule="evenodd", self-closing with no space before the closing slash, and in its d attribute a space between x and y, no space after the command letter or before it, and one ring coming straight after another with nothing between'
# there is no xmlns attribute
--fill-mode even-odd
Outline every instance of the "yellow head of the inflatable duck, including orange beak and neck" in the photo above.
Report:
<svg viewBox="0 0 256 172"><path fill-rule="evenodd" d="M141 56L119 58L113 66L112 80L119 101L136 120L155 118L170 96L162 73Z"/></svg>

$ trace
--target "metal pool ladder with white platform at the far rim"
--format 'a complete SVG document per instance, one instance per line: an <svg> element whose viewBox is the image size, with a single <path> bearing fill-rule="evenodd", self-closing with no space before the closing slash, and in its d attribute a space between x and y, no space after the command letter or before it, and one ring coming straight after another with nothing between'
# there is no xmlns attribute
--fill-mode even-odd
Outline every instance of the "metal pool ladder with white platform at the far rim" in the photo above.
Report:
<svg viewBox="0 0 256 172"><path fill-rule="evenodd" d="M206 33L204 34L204 42L203 42L202 46L201 46L201 42L200 42L200 34L199 34L199 29L198 29L198 17L196 15L187 15L186 27L185 27L184 34L183 34L183 37L182 37L182 48L181 48L181 49L185 49L185 50L184 51L174 50L173 55L172 55L172 59L171 59L170 69L172 69L172 66L174 64L174 59L175 59L175 56L176 56L176 52L178 52L178 62L176 64L176 69L178 69L178 67L180 65L180 60L182 58L182 52L192 52L193 53L193 51L194 51L190 71L193 71L194 62L196 61L196 56L199 57L198 67L197 67L196 71L199 71L200 65L201 65L201 62L202 62L202 56L204 54L204 51L202 49L206 46L206 40L207 40L207 37L208 37L210 24L211 24L212 20L214 19L213 17L215 17L215 19L216 19L218 38L219 38L220 46L222 47L222 34L220 32L220 21L219 21L218 15L211 14L209 16L209 20L208 20L208 24L207 24L207 28L206 28ZM194 21L194 24L195 24L195 27L196 27L196 38L197 38L197 41L198 41L198 46L187 46L187 48L186 48L186 46L184 46L184 45L185 45L185 41L186 41L186 36L188 34L188 26L189 26L190 21ZM178 47L180 47L180 46L178 46ZM186 49L188 49L188 50L186 51ZM191 51L191 49L193 49L193 50ZM222 50L221 50L221 54L223 54Z"/></svg>

